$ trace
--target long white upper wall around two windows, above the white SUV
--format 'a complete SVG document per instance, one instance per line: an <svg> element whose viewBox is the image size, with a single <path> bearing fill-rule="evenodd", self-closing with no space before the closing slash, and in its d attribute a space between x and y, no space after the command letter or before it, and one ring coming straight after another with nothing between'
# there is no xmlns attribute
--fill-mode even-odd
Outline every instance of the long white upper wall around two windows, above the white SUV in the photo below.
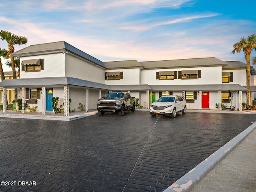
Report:
<svg viewBox="0 0 256 192"><path fill-rule="evenodd" d="M158 80L156 72L159 71L182 71L182 70L201 70L201 78L198 79L174 79ZM221 84L222 67L196 67L196 68L169 68L169 69L151 69L141 71L141 84L148 85L193 85L193 84ZM178 73L178 72L177 72Z"/></svg>

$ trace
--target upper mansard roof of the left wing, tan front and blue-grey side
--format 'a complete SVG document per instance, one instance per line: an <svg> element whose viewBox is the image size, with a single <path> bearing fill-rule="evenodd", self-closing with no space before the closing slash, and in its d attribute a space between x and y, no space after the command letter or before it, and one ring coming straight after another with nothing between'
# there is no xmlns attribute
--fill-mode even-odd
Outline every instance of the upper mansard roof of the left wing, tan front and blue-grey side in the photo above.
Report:
<svg viewBox="0 0 256 192"><path fill-rule="evenodd" d="M30 45L26 48L18 50L11 55L14 57L22 57L22 56L32 56L32 55L42 55L42 54L52 54L52 53L62 53L64 51L76 54L86 60L89 60L99 66L106 68L104 63L93 56L75 48L74 46L68 44L65 41L52 42L52 43L44 43L44 44L36 44Z"/></svg>

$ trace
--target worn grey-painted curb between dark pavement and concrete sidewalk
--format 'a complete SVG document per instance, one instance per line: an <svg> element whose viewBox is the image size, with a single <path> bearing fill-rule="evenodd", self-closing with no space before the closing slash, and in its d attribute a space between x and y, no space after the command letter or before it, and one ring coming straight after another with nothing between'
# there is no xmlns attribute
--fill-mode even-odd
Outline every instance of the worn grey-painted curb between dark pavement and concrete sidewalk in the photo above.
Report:
<svg viewBox="0 0 256 192"><path fill-rule="evenodd" d="M214 168L224 157L226 157L250 132L256 128L256 122L249 126L246 130L238 134L219 150L214 152L195 168L190 170L187 174L182 176L174 184L169 186L164 192L188 192L193 186L195 186L212 168Z"/></svg>

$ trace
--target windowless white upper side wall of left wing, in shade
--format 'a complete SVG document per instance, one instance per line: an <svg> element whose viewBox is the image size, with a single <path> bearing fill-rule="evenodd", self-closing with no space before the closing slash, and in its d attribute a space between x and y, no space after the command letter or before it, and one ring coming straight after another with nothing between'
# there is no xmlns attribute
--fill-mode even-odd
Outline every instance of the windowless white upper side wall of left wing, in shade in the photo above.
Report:
<svg viewBox="0 0 256 192"><path fill-rule="evenodd" d="M65 76L104 84L105 69L68 53L65 54Z"/></svg>

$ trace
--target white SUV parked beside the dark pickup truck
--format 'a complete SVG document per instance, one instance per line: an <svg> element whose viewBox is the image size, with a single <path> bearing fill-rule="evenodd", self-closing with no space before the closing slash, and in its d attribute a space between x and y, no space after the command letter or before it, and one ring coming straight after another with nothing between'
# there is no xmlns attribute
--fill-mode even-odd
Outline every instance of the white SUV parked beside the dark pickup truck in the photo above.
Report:
<svg viewBox="0 0 256 192"><path fill-rule="evenodd" d="M150 105L150 114L152 116L171 115L175 118L177 112L186 114L186 105L186 100L182 96L166 95Z"/></svg>

